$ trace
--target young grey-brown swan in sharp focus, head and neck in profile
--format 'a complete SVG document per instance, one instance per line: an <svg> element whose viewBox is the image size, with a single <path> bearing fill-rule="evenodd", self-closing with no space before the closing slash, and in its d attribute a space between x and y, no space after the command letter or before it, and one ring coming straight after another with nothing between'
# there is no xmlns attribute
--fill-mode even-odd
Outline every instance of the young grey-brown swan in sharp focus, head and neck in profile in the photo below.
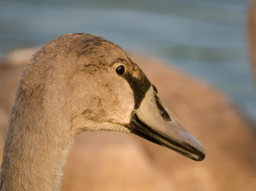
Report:
<svg viewBox="0 0 256 191"><path fill-rule="evenodd" d="M197 161L206 155L130 54L99 36L66 34L44 45L23 69L0 190L58 191L74 137L95 130L134 133Z"/></svg>

